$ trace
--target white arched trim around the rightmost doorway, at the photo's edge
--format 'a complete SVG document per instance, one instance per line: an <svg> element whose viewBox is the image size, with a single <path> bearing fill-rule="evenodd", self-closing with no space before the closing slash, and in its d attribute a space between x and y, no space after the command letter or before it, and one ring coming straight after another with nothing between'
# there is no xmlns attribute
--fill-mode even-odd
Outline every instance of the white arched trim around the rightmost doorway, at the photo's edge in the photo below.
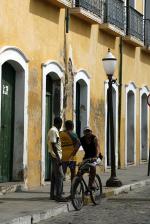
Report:
<svg viewBox="0 0 150 224"><path fill-rule="evenodd" d="M141 129L142 129L142 121L141 121L141 108L142 108L142 96L143 94L146 94L147 96L149 95L150 90L147 86L144 86L143 88L140 89L140 161L142 158L142 136L141 136ZM147 148L149 149L149 108L147 109ZM149 150L147 150L147 158L149 156Z"/></svg>

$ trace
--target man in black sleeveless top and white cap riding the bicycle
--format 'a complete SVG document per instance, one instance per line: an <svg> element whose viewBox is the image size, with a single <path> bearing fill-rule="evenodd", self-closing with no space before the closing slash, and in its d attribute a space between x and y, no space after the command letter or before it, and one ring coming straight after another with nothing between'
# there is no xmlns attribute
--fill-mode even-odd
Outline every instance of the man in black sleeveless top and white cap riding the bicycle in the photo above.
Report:
<svg viewBox="0 0 150 224"><path fill-rule="evenodd" d="M80 139L81 145L84 149L85 155L84 159L90 159L90 158L97 158L100 159L103 158L103 156L100 153L100 146L98 143L98 139L95 135L92 134L92 130L90 127L84 128L84 136ZM90 167L90 173L89 173L89 188L94 188L93 183L96 175L96 166Z"/></svg>

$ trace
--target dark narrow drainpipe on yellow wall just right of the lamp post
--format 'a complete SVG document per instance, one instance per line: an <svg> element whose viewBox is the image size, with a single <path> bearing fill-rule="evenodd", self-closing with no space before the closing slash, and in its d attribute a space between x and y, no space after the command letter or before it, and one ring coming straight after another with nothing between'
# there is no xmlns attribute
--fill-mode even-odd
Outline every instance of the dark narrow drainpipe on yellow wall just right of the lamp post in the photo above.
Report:
<svg viewBox="0 0 150 224"><path fill-rule="evenodd" d="M120 37L119 44L120 62L119 62L119 103L118 103L118 166L121 166L120 147L121 147L121 103L122 103L122 60L123 60L123 41Z"/></svg>

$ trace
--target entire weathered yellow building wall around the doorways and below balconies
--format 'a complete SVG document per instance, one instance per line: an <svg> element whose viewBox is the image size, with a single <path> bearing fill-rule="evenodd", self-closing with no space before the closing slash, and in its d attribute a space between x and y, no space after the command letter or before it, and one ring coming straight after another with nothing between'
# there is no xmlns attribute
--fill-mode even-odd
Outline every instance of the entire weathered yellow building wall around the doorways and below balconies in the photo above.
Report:
<svg viewBox="0 0 150 224"><path fill-rule="evenodd" d="M142 0L136 8L141 12ZM7 15L7 16L6 16ZM29 127L28 127L28 185L41 183L41 116L42 116L42 71L41 64L56 60L64 64L64 21L65 10L42 0L1 0L0 45L20 48L29 58ZM104 154L105 140L105 99L102 58L108 48L118 59L115 77L119 72L119 38L99 30L98 25L70 17L70 33L67 36L73 52L75 71L84 69L91 77L90 124L100 140ZM123 42L123 88L121 117L121 166L124 166L125 148L125 85L134 81L139 88L150 86L150 54ZM69 101L71 98L69 98ZM67 119L72 111L67 109ZM139 98L137 97L137 160L139 160ZM79 152L79 154L82 152Z"/></svg>

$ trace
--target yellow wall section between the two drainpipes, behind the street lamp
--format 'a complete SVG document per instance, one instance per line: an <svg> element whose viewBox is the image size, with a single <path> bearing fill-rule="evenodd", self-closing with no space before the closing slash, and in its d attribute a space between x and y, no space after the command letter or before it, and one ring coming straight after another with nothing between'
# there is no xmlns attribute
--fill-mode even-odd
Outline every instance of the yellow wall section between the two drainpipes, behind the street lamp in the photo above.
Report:
<svg viewBox="0 0 150 224"><path fill-rule="evenodd" d="M108 48L118 58L118 40L114 36L99 30L98 25L71 16L70 39L73 51L73 63L76 70L84 68L90 75L90 124L98 136L102 153L104 154L105 111L104 111L104 82L107 76L102 65L102 58ZM116 69L116 75L118 69Z"/></svg>

